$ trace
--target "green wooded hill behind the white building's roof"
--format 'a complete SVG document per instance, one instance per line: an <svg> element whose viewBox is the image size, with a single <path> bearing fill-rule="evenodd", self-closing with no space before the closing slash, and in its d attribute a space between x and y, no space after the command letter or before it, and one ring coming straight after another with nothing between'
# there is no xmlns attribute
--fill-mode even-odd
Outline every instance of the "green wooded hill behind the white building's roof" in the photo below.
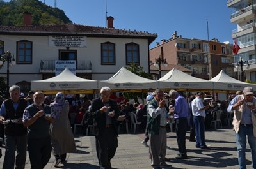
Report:
<svg viewBox="0 0 256 169"><path fill-rule="evenodd" d="M35 26L72 23L63 10L52 8L38 0L0 0L0 25L22 26L23 13L26 11L31 13L32 24Z"/></svg>

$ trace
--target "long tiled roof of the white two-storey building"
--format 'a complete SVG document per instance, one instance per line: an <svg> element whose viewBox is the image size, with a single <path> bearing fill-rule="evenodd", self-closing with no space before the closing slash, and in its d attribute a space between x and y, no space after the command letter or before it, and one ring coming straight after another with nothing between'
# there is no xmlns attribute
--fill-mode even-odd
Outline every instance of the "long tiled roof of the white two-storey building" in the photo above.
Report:
<svg viewBox="0 0 256 169"><path fill-rule="evenodd" d="M44 25L44 26L0 26L1 34L76 34L80 36L121 36L129 38L147 38L154 41L156 33L131 31L107 27L83 26L79 24Z"/></svg>

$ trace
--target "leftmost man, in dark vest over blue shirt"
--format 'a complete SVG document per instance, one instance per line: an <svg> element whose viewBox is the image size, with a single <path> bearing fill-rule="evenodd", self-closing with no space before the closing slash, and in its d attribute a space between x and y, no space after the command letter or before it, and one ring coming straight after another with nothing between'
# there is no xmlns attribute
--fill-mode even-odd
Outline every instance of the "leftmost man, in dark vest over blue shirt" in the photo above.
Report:
<svg viewBox="0 0 256 169"><path fill-rule="evenodd" d="M9 89L10 99L6 99L0 109L0 122L4 124L5 155L3 169L25 168L27 151L27 129L23 126L22 116L28 101L20 98L20 87L13 85Z"/></svg>

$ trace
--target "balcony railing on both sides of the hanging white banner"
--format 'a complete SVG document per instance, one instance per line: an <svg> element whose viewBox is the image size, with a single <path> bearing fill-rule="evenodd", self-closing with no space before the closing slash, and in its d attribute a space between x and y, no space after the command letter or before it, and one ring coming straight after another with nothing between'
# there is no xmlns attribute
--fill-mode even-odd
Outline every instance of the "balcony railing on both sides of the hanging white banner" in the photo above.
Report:
<svg viewBox="0 0 256 169"><path fill-rule="evenodd" d="M55 60L41 60L40 70L54 70ZM76 61L76 70L92 70L91 61Z"/></svg>

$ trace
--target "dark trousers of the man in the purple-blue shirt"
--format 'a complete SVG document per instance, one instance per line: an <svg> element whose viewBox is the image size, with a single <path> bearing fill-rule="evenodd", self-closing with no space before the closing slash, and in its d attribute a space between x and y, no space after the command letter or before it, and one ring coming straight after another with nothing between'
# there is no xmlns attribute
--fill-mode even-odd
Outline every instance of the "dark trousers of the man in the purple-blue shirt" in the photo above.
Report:
<svg viewBox="0 0 256 169"><path fill-rule="evenodd" d="M187 117L180 117L175 119L175 131L177 135L177 143L179 152L181 155L187 153L186 151L186 131L188 128L188 120Z"/></svg>

